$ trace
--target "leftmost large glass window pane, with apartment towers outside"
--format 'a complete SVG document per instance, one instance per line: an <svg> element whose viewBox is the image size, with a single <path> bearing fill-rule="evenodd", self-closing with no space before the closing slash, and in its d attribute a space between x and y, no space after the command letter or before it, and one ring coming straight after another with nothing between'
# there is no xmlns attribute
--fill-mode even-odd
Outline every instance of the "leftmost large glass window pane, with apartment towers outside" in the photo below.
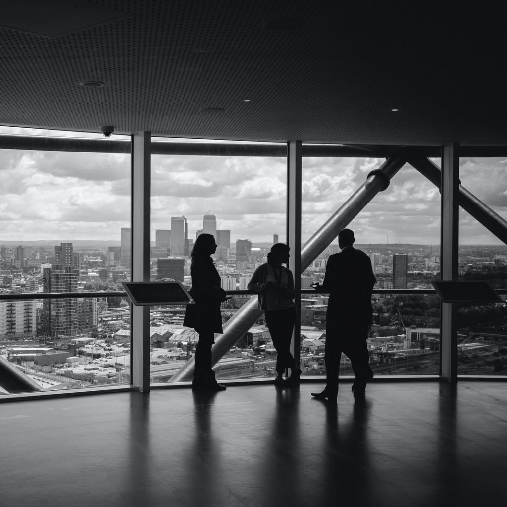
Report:
<svg viewBox="0 0 507 507"><path fill-rule="evenodd" d="M129 256L121 255L121 231L130 227L129 153L93 153L91 144L77 151L87 140L103 139L99 134L0 127L0 135L12 136L13 145L15 136L32 136L34 147L0 149L4 378L8 370L21 372L15 373L21 384L28 377L39 390L128 383L127 301L77 296L123 291L121 281L130 277ZM41 136L64 148L35 149ZM114 136L112 143L115 138L129 141ZM76 297L2 299L37 298L39 292ZM6 361L18 368L9 369Z"/></svg>

